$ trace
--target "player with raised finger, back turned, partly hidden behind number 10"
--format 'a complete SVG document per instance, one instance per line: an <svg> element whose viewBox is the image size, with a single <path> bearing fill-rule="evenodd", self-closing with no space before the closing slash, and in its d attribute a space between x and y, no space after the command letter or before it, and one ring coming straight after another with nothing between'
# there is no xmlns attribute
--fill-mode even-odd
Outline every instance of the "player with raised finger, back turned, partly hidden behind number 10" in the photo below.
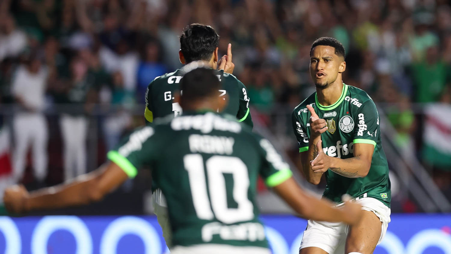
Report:
<svg viewBox="0 0 451 254"><path fill-rule="evenodd" d="M225 96L229 98L229 103L223 113L234 115L239 122L252 127L246 87L231 74L235 68L232 62L231 44L227 48L227 55L224 55L221 60L218 58L218 44L219 35L211 26L193 23L187 26L180 35L180 62L189 64L193 61L202 61L203 64L214 69L216 77L221 81L221 88L218 89L217 95L222 99L225 99ZM144 112L148 122L152 122L154 118L170 114L175 117L181 115L182 109L179 102L175 102L173 99L175 92L179 90L182 75L183 70L177 69L174 72L157 77L149 84L145 95L146 109ZM152 190L154 190L152 194L154 212L163 230L166 245L171 248L172 237L166 201L161 194L161 189L155 187L155 185L152 186Z"/></svg>

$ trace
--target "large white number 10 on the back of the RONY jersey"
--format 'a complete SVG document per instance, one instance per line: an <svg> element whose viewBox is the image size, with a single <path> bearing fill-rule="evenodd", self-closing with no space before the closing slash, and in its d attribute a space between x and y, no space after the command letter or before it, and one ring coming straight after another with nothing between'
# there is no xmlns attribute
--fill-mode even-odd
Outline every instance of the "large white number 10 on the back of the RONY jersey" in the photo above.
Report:
<svg viewBox="0 0 451 254"><path fill-rule="evenodd" d="M183 157L183 163L188 171L194 210L199 219L212 220L216 217L226 224L253 219L253 204L248 199L248 168L240 158L219 155L210 157L205 162L208 179L202 155L187 154ZM238 208L229 208L227 205L226 179L223 174L231 174L233 177L232 193Z"/></svg>

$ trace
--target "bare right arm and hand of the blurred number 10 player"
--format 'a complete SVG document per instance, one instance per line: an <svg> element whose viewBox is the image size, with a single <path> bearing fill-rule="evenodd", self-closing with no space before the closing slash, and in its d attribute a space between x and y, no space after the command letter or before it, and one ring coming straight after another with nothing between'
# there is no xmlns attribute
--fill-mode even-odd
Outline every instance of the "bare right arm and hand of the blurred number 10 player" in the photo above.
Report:
<svg viewBox="0 0 451 254"><path fill-rule="evenodd" d="M273 187L274 191L298 212L301 217L316 221L345 222L354 225L362 217L361 207L347 201L341 208L333 208L333 203L316 199L299 187L293 177Z"/></svg>

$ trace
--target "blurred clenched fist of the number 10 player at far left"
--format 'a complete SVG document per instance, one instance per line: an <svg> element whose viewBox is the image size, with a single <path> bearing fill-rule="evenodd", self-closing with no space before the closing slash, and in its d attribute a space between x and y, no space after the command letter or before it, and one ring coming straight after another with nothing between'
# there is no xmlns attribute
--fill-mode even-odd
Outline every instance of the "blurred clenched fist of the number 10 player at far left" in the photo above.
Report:
<svg viewBox="0 0 451 254"><path fill-rule="evenodd" d="M22 213L26 211L25 199L28 198L28 191L23 185L13 185L5 189L3 203L8 212Z"/></svg>

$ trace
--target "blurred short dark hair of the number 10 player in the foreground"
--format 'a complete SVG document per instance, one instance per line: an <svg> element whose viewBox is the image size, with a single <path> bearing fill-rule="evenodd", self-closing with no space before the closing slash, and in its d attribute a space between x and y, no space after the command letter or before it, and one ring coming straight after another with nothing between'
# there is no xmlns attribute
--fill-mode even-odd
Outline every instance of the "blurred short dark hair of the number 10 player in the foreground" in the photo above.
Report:
<svg viewBox="0 0 451 254"><path fill-rule="evenodd" d="M180 80L180 90L184 100L195 101L210 96L218 96L221 83L213 69L204 67L190 70Z"/></svg>

